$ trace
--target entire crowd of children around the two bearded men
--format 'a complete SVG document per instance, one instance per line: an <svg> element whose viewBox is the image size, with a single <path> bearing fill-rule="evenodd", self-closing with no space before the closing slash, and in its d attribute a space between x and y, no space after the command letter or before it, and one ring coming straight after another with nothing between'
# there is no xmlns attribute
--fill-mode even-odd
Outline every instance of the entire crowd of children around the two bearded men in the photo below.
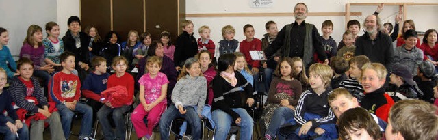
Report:
<svg viewBox="0 0 438 140"><path fill-rule="evenodd" d="M198 29L201 38L196 40L190 20L181 22L183 33L175 44L166 31L159 35L159 42L152 42L150 33L139 35L134 30L129 31L127 42L119 44L114 31L103 41L96 27L87 27L85 34L77 30L80 24L79 18L69 18L63 39L56 23L47 23L44 39L42 28L31 25L17 63L5 46L8 31L0 28L0 100L4 101L0 109L8 114L1 115L5 125L1 124L0 130L6 138L43 139L44 123L48 123L52 139L68 139L73 117L81 113L79 139L92 139L95 120L103 126L105 139L125 139L123 117L135 97L139 102L131 120L139 139L152 139L155 126L159 126L161 139L169 139L172 120L179 117L185 120L180 135L192 139L201 138L202 119L215 128L214 139L226 139L233 125L240 126L240 139L251 139L255 120L246 109L253 107L254 93L263 92L261 89L268 93L260 121L266 139L381 139L385 128L387 139L437 137L438 127L433 125L438 123L436 109L430 105L438 104L438 86L433 79L437 31L426 31L420 46L411 20L403 24L404 39L397 39L404 43L394 50L398 64L391 68L389 78L382 64L355 56L357 20L347 23L338 46L330 36L333 23L322 23L320 40L331 63L312 64L308 71L299 57L276 53L266 61L251 58L250 51L262 51L274 42L278 29L273 21L266 23L262 40L254 37L252 25L244 25L246 39L242 42L234 39L234 27L224 26L223 40L217 46L210 40L208 26ZM167 59L173 70L181 70L176 83L163 70L169 67ZM134 81L130 72L141 67L146 68ZM108 73L111 71L114 74ZM261 71L264 88L258 85ZM10 86L3 90L7 80ZM388 83L394 88L388 88ZM138 96L134 95L136 84ZM430 103L405 100L408 98ZM418 135L402 125L407 122L422 124L415 126L421 130L415 132L428 134ZM185 132L187 126L190 132Z"/></svg>

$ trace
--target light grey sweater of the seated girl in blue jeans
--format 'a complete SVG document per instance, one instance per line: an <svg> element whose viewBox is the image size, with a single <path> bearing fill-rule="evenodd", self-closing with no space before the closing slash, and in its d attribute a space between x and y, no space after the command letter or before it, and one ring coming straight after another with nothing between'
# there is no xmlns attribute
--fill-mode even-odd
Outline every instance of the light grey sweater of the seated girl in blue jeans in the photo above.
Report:
<svg viewBox="0 0 438 140"><path fill-rule="evenodd" d="M206 98L207 79L204 76L190 77L185 75L177 81L172 91L172 102L175 103L177 109L179 105L183 107L197 105L198 114L202 113Z"/></svg>

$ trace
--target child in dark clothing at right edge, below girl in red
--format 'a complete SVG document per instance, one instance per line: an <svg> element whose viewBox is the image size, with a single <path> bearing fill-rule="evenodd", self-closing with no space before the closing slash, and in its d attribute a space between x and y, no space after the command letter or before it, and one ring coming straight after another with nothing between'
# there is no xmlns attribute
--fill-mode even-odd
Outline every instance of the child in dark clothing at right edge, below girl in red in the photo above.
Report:
<svg viewBox="0 0 438 140"><path fill-rule="evenodd" d="M417 76L413 79L424 94L419 96L419 99L431 104L436 100L433 98L433 87L437 83L435 83L436 80L433 80L433 76L435 76L435 66L430 61L423 61L418 66Z"/></svg>

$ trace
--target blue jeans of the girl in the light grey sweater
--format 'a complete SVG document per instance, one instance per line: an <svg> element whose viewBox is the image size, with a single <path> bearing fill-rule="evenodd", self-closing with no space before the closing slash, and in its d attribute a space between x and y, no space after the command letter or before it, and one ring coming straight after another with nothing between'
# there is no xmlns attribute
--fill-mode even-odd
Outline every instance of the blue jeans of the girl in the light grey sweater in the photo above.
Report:
<svg viewBox="0 0 438 140"><path fill-rule="evenodd" d="M172 120L177 117L183 117L190 125L192 130L193 139L201 139L201 118L193 107L184 107L187 111L185 114L179 113L179 109L175 107L175 104L170 104L166 112L163 113L161 120L159 120L159 133L161 139L169 139L170 124Z"/></svg>

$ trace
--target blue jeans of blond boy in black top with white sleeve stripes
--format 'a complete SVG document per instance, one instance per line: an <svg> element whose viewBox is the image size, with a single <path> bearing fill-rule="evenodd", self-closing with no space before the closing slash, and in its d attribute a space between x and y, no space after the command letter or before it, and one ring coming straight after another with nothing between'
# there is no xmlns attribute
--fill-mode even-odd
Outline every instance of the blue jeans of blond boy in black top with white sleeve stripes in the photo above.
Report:
<svg viewBox="0 0 438 140"><path fill-rule="evenodd" d="M305 113L304 114L304 119L306 121L309 120L314 120L314 119L320 119L322 118L320 115L316 115L316 114L312 114L312 113ZM291 124L297 124L297 122L292 119ZM316 139L337 139L338 135L337 135L337 130L336 130L336 125L335 124L321 124L320 126L317 126L319 128L322 128L325 130L324 134L322 134L320 137L317 137ZM308 137L312 137L314 135L318 135L315 133L315 129L311 129L307 132L307 135L301 135L298 136L298 132L300 132L301 127L297 128L295 130L295 132L292 133L292 135L287 136L287 139L294 137L296 139L298 139L298 137L300 139L305 139Z"/></svg>

